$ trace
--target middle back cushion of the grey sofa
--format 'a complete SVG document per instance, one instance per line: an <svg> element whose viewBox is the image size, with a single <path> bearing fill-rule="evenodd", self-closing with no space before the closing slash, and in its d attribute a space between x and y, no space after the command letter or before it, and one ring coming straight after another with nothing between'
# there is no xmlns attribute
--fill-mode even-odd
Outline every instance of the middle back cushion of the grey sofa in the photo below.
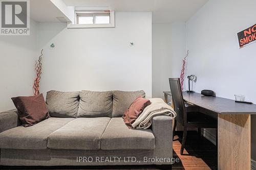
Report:
<svg viewBox="0 0 256 170"><path fill-rule="evenodd" d="M112 91L87 91L79 94L77 117L111 117Z"/></svg>

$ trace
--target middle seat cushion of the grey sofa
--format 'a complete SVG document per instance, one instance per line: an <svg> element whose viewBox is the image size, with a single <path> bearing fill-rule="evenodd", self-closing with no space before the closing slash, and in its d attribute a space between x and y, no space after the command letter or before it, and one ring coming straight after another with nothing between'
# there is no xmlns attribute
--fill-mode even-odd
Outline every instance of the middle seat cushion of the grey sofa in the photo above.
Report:
<svg viewBox="0 0 256 170"><path fill-rule="evenodd" d="M109 117L76 118L48 136L48 148L99 150L100 137L109 121Z"/></svg>

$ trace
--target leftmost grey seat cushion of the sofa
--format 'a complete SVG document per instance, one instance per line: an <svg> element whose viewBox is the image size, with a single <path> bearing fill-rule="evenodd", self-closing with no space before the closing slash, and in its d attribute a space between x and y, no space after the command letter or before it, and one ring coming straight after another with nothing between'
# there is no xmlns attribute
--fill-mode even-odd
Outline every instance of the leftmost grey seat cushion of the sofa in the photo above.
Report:
<svg viewBox="0 0 256 170"><path fill-rule="evenodd" d="M74 118L50 117L30 127L18 126L0 133L0 149L47 149L47 137Z"/></svg>

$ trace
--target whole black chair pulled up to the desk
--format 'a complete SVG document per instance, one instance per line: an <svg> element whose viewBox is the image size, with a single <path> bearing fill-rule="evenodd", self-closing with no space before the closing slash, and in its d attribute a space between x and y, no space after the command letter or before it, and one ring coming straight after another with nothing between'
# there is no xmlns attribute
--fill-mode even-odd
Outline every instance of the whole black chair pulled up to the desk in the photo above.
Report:
<svg viewBox="0 0 256 170"><path fill-rule="evenodd" d="M173 137L175 135L175 129L178 122L184 127L180 149L180 154L183 155L184 145L187 137L187 128L198 128L198 133L200 133L199 135L201 136L201 128L216 128L217 131L218 120L207 114L193 111L193 109L188 109L191 106L185 105L179 78L170 78L169 83L170 91L172 91L173 96L174 110L177 113L174 120ZM216 144L217 141L218 137L216 136Z"/></svg>

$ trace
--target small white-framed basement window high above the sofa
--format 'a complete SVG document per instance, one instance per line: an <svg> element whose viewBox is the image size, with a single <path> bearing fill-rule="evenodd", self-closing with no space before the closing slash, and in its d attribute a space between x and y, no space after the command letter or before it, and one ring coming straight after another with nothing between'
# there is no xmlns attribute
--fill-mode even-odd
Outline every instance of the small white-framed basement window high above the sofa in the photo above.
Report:
<svg viewBox="0 0 256 170"><path fill-rule="evenodd" d="M75 24L68 28L108 28L115 27L114 11L75 10Z"/></svg>

